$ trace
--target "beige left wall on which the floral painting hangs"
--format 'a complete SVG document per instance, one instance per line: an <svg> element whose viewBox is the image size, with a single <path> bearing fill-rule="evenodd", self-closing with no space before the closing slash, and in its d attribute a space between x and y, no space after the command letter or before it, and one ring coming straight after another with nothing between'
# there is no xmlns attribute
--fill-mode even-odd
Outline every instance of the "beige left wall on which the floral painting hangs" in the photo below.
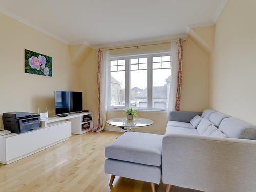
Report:
<svg viewBox="0 0 256 192"><path fill-rule="evenodd" d="M37 112L47 107L54 114L54 90L79 90L79 68L70 65L69 46L0 14L0 127L2 113ZM52 57L53 76L24 72L24 50Z"/></svg>

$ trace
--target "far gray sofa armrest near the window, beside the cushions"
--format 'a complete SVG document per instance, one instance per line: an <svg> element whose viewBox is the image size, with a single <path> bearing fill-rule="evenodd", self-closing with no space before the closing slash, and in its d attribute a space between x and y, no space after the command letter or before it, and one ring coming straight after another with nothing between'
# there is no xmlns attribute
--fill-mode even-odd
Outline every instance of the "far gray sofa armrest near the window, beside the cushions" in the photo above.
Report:
<svg viewBox="0 0 256 192"><path fill-rule="evenodd" d="M194 111L170 111L169 121L181 121L189 123L196 115L202 115L202 112Z"/></svg>

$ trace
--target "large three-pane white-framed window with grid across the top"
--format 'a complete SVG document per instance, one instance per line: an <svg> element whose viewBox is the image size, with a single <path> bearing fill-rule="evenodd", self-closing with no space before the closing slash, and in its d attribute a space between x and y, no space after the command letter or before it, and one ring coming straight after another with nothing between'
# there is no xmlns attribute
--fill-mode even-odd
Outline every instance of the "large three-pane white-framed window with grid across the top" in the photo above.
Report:
<svg viewBox="0 0 256 192"><path fill-rule="evenodd" d="M171 66L169 53L111 58L109 108L166 110Z"/></svg>

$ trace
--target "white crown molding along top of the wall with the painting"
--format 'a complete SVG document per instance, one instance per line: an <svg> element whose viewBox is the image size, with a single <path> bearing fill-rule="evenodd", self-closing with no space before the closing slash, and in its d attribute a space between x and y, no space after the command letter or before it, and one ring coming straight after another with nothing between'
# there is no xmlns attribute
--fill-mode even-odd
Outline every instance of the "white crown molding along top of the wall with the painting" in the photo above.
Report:
<svg viewBox="0 0 256 192"><path fill-rule="evenodd" d="M53 38L55 38L55 39L65 43L65 44L69 45L69 41L68 40L63 39L63 38L59 37L58 35L55 35L55 34L49 32L49 31L47 31L45 29L42 29L42 28L40 28L40 27L30 23L28 20L26 20L26 19L24 19L24 18L22 18L20 16L17 16L15 14L11 13L10 11L7 11L7 10L1 8L1 7L0 7L0 13L3 13L4 15L7 15L7 16L17 20L20 23L23 23L23 24L25 24L25 25L27 25L29 27L32 27L33 29L35 29L37 31L40 31L41 33L44 33L44 34L46 34L48 36L51 36L51 37L53 37Z"/></svg>

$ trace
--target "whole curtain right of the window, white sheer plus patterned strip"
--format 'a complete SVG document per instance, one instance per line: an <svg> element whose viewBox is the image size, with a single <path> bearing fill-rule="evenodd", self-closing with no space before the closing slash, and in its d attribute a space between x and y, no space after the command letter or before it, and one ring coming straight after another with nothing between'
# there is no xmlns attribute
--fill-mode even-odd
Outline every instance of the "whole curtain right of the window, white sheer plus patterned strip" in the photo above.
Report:
<svg viewBox="0 0 256 192"><path fill-rule="evenodd" d="M182 80L182 39L171 43L170 53L172 55L172 72L170 76L170 93L168 98L168 113L180 110L180 92Z"/></svg>

